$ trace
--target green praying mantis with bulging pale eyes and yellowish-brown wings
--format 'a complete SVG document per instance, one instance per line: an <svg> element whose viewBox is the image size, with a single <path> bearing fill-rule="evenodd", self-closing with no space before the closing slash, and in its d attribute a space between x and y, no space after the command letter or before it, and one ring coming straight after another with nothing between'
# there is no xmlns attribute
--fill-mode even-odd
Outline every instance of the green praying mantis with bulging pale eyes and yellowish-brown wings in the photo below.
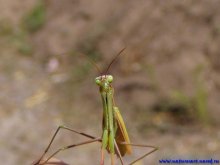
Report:
<svg viewBox="0 0 220 165"><path fill-rule="evenodd" d="M59 126L57 130L55 131L52 139L50 140L50 143L48 144L47 148L45 149L43 155L38 159L33 165L45 165L47 164L55 155L57 155L59 152L63 150L67 150L69 148L74 148L77 146L86 145L89 143L94 142L100 142L101 143L101 162L100 165L104 165L104 155L105 151L111 155L111 165L115 165L115 155L120 159L121 165L125 165L123 161L123 156L126 154L132 153L132 146L134 147L148 147L151 148L150 152L147 152L137 158L136 160L130 162L128 165L135 164L139 160L143 159L144 157L150 155L151 153L158 150L155 146L150 145L142 145L142 144L133 144L130 142L127 129L123 120L123 117L120 113L119 108L116 106L114 101L114 88L112 87L111 83L113 82L113 76L108 75L107 72L110 69L111 65L114 63L114 61L122 54L122 52L125 50L122 49L116 57L111 61L111 63L108 65L106 71L104 74L101 74L100 69L97 67L97 65L91 60L90 62L94 64L94 66L97 68L97 70L100 73L100 76L95 78L95 83L99 86L99 92L102 99L102 106L103 106L103 121L102 121L102 136L101 137L95 137L92 135L89 135L87 133L77 131L71 128L68 128L66 126ZM56 152L54 152L51 156L48 158L44 158L48 150L50 149L55 137L57 136L58 132L61 130L68 130L73 133L82 135L87 137L89 140L68 145L65 147L62 147L58 149Z"/></svg>

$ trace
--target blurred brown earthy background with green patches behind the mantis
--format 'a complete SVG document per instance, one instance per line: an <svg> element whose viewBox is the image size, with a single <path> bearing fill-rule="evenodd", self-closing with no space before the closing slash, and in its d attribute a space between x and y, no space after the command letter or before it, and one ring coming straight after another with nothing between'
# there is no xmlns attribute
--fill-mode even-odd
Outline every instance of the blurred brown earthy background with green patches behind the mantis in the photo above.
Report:
<svg viewBox="0 0 220 165"><path fill-rule="evenodd" d="M2 1L1 162L31 164L61 124L100 136L99 73L81 53L104 71L125 46L109 70L116 104L131 141L160 148L140 164L219 159L219 8L218 0ZM50 153L83 140L62 131ZM100 144L57 157L99 164Z"/></svg>

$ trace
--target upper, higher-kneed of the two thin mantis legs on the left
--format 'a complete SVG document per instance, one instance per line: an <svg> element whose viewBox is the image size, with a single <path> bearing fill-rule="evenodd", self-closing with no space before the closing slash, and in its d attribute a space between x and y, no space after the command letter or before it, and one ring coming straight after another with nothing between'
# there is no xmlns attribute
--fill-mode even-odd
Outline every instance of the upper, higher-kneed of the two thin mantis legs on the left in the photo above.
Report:
<svg viewBox="0 0 220 165"><path fill-rule="evenodd" d="M40 157L40 159L39 159L36 163L34 163L34 165L39 165L40 161L43 159L43 157L46 155L46 153L47 153L48 150L50 149L50 147L51 147L51 145L52 145L52 143L53 143L55 137L57 136L57 134L59 133L59 131L60 131L61 129L68 130L68 131L70 131L70 132L73 132L73 133L76 133L76 134L79 134L79 135L88 137L89 139L94 139L94 140L97 139L97 137L95 137L95 136L92 136L92 135L89 135L89 134L86 134L86 133L83 133L83 132L80 132L80 131L76 131L76 130L71 129L71 128L68 128L68 127L66 127L66 126L59 126L59 127L56 129L54 135L52 136L52 138L51 138L51 140L50 140L50 143L48 144L47 148L44 150L44 153L42 154L42 156ZM98 140L96 140L96 141L98 141ZM101 141L101 139L100 139L99 141Z"/></svg>

